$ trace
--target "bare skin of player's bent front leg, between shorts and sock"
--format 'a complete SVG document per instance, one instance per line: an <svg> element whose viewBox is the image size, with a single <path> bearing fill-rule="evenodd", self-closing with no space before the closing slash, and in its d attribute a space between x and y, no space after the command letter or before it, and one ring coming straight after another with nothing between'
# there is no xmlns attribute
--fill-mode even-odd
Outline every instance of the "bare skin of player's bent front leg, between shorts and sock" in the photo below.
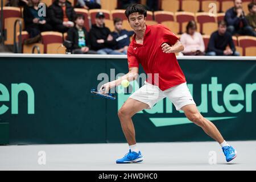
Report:
<svg viewBox="0 0 256 182"><path fill-rule="evenodd" d="M125 134L125 138L129 146L136 144L135 129L131 117L133 117L134 114L138 113L138 111L146 109L147 107L148 105L141 101L134 100L133 98L128 98L128 100L123 104L121 109L118 110L118 117L121 122L123 134Z"/></svg>

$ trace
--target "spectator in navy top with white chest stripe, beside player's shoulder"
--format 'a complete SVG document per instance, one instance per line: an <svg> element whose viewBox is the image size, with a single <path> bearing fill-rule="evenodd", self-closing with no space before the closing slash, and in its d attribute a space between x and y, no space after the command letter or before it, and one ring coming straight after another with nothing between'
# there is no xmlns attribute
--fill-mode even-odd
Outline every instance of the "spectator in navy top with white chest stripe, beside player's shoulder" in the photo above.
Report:
<svg viewBox="0 0 256 182"><path fill-rule="evenodd" d="M110 34L113 36L114 40L117 42L117 49L118 52L123 53L124 55L127 54L127 49L130 44L130 36L134 34L134 31L127 31L122 28L123 21L121 18L114 19L114 26L115 30Z"/></svg>

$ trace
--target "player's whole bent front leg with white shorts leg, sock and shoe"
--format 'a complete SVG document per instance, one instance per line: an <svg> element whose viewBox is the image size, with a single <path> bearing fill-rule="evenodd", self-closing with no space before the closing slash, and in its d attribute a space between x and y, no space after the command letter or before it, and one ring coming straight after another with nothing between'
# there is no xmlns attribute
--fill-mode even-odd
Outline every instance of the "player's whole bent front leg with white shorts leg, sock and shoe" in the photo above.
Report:
<svg viewBox="0 0 256 182"><path fill-rule="evenodd" d="M129 144L129 153L118 159L117 163L142 162L143 156L138 150L135 140L135 129L131 117L143 109L151 109L159 100L163 98L162 91L158 86L145 84L134 92L118 111L123 134Z"/></svg>

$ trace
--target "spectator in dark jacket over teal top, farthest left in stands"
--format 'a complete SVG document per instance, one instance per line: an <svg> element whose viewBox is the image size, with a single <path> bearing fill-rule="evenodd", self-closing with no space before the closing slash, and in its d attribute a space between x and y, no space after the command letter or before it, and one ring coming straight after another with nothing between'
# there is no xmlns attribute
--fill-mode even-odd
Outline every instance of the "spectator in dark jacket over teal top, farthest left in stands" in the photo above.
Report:
<svg viewBox="0 0 256 182"><path fill-rule="evenodd" d="M52 26L49 24L48 9L46 4L46 16L40 14L39 9L40 0L28 0L28 5L24 6L23 18L25 24L25 30L30 35L30 39L24 40L24 44L32 44L39 42L41 39L40 32L51 31Z"/></svg>

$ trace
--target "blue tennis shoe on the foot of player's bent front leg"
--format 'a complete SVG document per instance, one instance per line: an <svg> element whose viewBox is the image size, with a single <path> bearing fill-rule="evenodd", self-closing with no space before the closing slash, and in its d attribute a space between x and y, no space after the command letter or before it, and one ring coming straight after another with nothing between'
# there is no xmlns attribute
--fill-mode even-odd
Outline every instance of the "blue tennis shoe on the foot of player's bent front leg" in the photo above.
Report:
<svg viewBox="0 0 256 182"><path fill-rule="evenodd" d="M141 154L141 151L139 153L132 152L129 150L129 152L121 159L117 159L117 164L127 164L127 163L139 163L143 161L143 156Z"/></svg>

